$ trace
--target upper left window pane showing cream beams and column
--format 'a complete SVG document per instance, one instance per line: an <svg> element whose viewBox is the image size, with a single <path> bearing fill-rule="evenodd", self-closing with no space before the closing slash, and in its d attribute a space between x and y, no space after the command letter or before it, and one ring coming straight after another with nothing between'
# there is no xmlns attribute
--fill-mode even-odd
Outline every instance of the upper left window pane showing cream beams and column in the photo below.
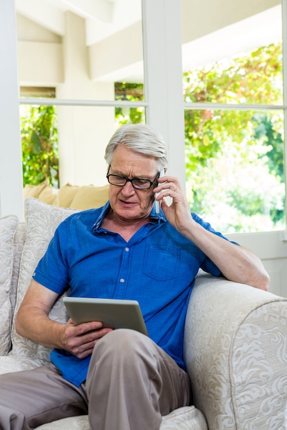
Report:
<svg viewBox="0 0 287 430"><path fill-rule="evenodd" d="M142 84L141 0L68 3L17 2L22 93L47 87L61 99L114 100L114 82Z"/></svg>

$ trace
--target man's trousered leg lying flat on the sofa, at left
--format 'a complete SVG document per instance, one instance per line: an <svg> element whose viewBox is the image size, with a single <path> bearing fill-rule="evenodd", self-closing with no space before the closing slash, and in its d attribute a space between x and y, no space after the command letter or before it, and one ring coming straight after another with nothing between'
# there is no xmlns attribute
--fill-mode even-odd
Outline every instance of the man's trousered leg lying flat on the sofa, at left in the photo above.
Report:
<svg viewBox="0 0 287 430"><path fill-rule="evenodd" d="M1 427L1 420L12 422L13 417L21 417L23 429L33 429L82 414L87 414L85 393L65 381L54 365L0 375L0 428L17 429Z"/></svg>

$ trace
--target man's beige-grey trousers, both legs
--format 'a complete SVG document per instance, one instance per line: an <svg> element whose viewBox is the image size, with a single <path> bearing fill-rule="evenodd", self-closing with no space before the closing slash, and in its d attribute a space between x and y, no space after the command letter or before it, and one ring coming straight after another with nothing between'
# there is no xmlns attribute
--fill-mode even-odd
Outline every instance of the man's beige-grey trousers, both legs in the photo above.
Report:
<svg viewBox="0 0 287 430"><path fill-rule="evenodd" d="M81 387L53 365L0 375L1 430L82 414L92 430L158 430L163 415L190 402L186 372L134 330L114 330L96 343Z"/></svg>

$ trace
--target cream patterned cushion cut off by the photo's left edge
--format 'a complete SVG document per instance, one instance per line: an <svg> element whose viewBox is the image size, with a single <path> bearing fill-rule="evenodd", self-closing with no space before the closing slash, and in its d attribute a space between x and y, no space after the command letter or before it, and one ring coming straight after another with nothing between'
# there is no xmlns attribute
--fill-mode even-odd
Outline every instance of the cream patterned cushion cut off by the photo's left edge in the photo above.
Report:
<svg viewBox="0 0 287 430"><path fill-rule="evenodd" d="M18 224L17 216L0 218L0 355L8 354L11 346L10 288L13 271L13 240Z"/></svg>

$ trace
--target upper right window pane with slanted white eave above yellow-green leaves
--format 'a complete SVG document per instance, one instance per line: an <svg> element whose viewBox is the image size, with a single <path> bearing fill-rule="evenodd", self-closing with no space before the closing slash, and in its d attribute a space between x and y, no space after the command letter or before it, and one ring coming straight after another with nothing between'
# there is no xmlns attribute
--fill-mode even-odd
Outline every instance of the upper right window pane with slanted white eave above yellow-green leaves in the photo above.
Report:
<svg viewBox="0 0 287 430"><path fill-rule="evenodd" d="M184 101L282 104L281 5L190 3L182 2Z"/></svg>

